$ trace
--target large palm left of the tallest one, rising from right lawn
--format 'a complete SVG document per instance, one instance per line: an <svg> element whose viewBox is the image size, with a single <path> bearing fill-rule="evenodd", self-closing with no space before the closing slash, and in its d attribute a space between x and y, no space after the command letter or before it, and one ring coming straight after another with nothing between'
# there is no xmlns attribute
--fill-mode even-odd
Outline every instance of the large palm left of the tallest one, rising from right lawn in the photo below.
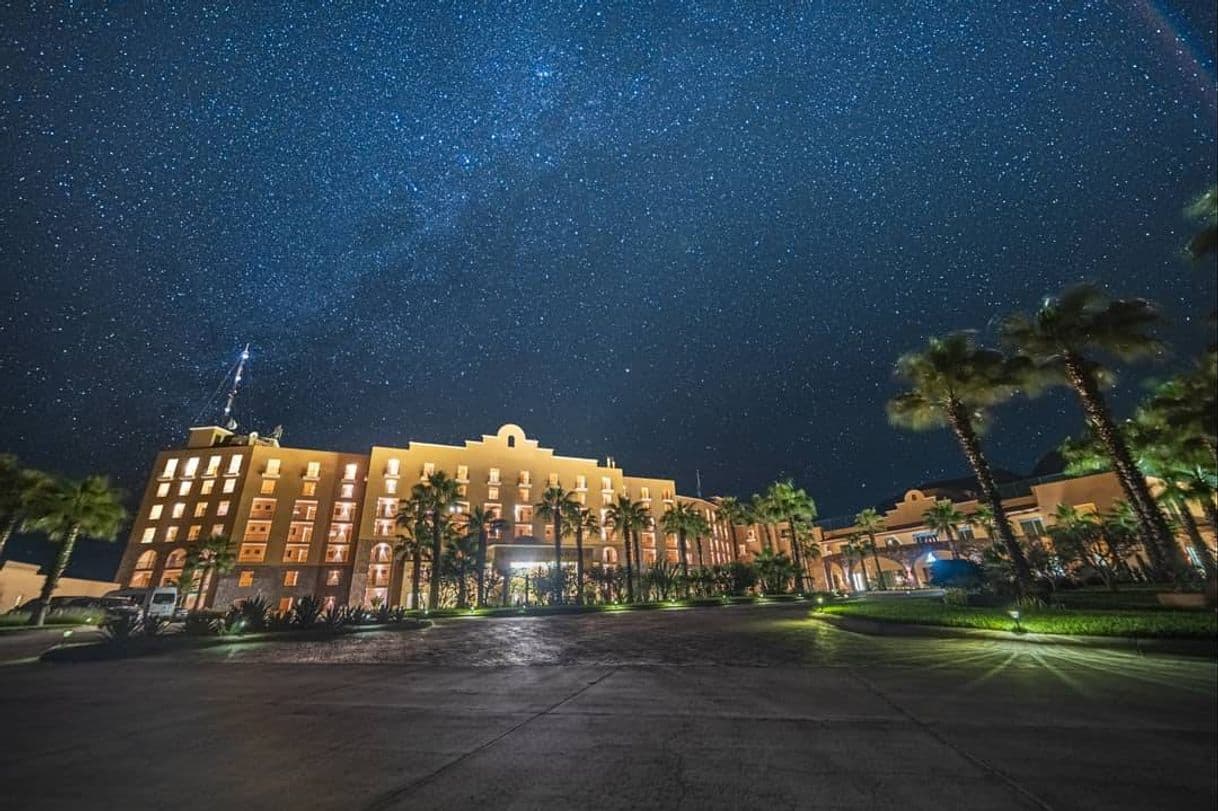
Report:
<svg viewBox="0 0 1218 811"><path fill-rule="evenodd" d="M1032 571L1015 539L998 483L982 449L980 434L989 409L1010 399L1026 374L1026 363L977 346L968 332L931 339L926 348L901 357L896 373L910 390L888 403L888 419L915 431L950 426L968 459L1015 570L1017 587L1032 586Z"/></svg>

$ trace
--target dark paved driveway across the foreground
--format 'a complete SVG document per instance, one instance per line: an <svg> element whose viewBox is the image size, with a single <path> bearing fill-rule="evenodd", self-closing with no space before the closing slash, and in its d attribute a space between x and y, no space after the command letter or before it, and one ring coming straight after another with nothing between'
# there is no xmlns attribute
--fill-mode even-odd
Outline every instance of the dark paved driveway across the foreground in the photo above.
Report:
<svg viewBox="0 0 1218 811"><path fill-rule="evenodd" d="M5 809L1212 809L1216 666L803 606L0 667Z"/></svg>

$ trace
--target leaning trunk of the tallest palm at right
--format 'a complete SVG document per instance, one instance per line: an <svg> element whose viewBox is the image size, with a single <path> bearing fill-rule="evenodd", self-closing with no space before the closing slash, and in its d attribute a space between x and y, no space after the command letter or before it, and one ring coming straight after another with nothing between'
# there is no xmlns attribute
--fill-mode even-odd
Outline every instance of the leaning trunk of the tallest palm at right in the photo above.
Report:
<svg viewBox="0 0 1218 811"><path fill-rule="evenodd" d="M1121 482L1121 490L1130 507L1134 508L1134 514L1138 515L1142 546L1146 547L1146 554L1150 555L1151 566L1161 570L1160 576L1173 574L1170 570L1177 567L1179 555L1173 553L1175 541L1172 537L1172 531L1167 526L1167 520L1158 509L1158 504L1155 503L1150 487L1146 486L1146 479L1129 452L1129 446L1125 444L1124 437L1121 436L1121 431L1112 421L1100 387L1086 370L1082 358L1066 353L1062 359L1066 365L1066 377L1078 395L1083 414L1091 430L1095 431L1095 436L1104 443L1108 459L1112 460L1117 481Z"/></svg>

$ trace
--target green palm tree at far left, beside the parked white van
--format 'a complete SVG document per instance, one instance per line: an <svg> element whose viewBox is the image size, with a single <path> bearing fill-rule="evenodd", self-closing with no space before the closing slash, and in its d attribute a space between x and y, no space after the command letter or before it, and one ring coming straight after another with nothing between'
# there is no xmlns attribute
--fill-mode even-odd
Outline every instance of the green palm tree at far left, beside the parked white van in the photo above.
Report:
<svg viewBox="0 0 1218 811"><path fill-rule="evenodd" d="M51 595L72 559L72 550L80 537L113 543L118 528L127 520L123 494L105 476L88 476L80 481L55 479L29 493L26 500L23 527L44 532L49 541L60 544L55 563L46 572L38 595L38 611L32 625L44 625L51 606Z"/></svg>

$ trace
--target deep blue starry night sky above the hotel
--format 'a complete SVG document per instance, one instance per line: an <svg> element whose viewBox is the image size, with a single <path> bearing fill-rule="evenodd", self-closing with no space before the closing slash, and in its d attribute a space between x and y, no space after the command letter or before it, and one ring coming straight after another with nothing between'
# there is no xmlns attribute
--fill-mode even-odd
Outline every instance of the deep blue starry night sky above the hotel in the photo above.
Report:
<svg viewBox="0 0 1218 811"><path fill-rule="evenodd" d="M1125 409L1209 340L1213 0L245 5L0 11L0 449L138 492L248 341L287 444L513 421L832 515L963 472L884 418L928 335L1152 297Z"/></svg>

